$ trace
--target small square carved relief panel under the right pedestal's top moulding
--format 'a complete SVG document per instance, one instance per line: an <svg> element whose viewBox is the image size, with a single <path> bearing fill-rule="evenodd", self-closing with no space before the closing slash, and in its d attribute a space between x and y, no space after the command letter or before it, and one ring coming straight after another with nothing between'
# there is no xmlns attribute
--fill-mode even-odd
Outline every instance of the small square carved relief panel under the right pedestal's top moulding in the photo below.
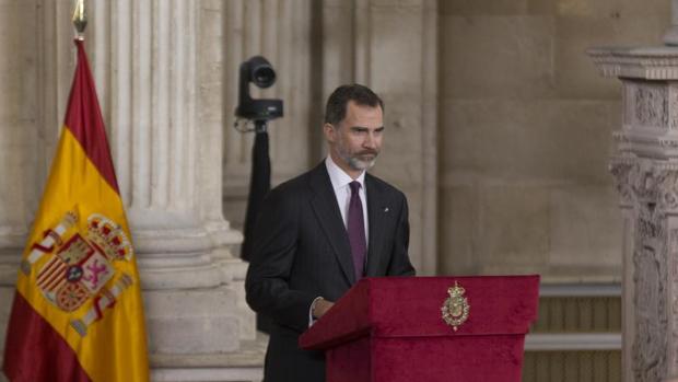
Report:
<svg viewBox="0 0 678 382"><path fill-rule="evenodd" d="M667 129L668 88L665 84L639 84L634 93L634 123L642 127Z"/></svg>

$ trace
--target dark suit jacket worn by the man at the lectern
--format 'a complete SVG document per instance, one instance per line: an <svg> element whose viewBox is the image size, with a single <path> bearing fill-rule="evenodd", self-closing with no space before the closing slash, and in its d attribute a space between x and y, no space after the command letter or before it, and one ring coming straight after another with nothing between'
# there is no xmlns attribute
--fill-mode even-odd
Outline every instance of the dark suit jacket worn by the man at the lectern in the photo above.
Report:
<svg viewBox="0 0 678 382"><path fill-rule="evenodd" d="M405 195L370 174L365 275L414 275L408 257ZM316 297L337 301L353 283L349 236L325 162L272 189L254 235L245 289L247 303L273 322L266 354L266 382L325 381L325 357L299 348Z"/></svg>

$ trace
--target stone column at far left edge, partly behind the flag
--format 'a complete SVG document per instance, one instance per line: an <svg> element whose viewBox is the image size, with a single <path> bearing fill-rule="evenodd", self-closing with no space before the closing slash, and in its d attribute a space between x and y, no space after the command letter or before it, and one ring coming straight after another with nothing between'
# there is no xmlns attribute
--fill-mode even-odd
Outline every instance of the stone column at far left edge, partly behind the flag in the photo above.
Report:
<svg viewBox="0 0 678 382"><path fill-rule="evenodd" d="M40 182L36 1L0 1L0 355ZM21 18L19 14L31 15ZM20 192L17 192L20 190ZM0 361L1 363L1 361Z"/></svg>

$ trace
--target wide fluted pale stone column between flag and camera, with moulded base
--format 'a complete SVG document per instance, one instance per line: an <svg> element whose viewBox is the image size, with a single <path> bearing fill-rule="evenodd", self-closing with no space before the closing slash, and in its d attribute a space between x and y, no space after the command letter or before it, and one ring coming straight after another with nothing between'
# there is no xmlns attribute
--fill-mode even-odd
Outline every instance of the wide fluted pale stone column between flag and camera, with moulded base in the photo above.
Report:
<svg viewBox="0 0 678 382"><path fill-rule="evenodd" d="M144 290L152 354L254 339L221 212L221 20L213 1L93 3L89 32ZM209 46L207 43L209 42Z"/></svg>

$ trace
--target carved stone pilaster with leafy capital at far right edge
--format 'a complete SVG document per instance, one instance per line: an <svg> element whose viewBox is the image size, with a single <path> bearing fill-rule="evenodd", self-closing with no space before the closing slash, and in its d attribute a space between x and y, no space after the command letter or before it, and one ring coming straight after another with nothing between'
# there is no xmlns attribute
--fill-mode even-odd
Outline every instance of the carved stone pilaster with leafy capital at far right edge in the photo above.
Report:
<svg viewBox="0 0 678 382"><path fill-rule="evenodd" d="M678 229L667 229L678 216L678 164L617 157L610 172L635 216L633 378L663 381L678 370L678 357L667 352L671 346L678 354Z"/></svg>

